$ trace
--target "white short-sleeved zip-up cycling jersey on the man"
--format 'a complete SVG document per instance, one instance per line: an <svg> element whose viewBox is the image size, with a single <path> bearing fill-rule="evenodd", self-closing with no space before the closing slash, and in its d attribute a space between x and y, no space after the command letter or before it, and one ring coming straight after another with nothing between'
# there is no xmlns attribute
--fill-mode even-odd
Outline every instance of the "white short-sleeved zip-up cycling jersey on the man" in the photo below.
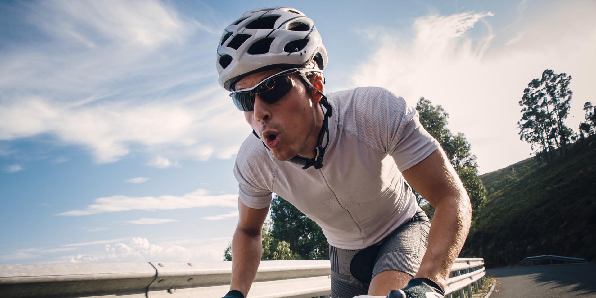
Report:
<svg viewBox="0 0 596 298"><path fill-rule="evenodd" d="M414 216L417 203L401 171L439 147L417 111L378 87L327 94L330 143L323 167L276 160L250 134L238 151L234 176L240 200L265 208L276 193L321 226L340 249L363 249ZM322 142L325 144L326 140Z"/></svg>

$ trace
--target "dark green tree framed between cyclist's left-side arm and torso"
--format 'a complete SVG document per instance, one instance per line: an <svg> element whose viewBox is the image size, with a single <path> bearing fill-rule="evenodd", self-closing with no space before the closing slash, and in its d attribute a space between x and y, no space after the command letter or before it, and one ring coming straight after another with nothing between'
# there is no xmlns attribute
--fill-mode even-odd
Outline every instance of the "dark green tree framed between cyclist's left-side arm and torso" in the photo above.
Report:
<svg viewBox="0 0 596 298"><path fill-rule="evenodd" d="M278 195L271 201L271 219L271 235L287 242L300 259L329 259L329 244L321 227Z"/></svg>

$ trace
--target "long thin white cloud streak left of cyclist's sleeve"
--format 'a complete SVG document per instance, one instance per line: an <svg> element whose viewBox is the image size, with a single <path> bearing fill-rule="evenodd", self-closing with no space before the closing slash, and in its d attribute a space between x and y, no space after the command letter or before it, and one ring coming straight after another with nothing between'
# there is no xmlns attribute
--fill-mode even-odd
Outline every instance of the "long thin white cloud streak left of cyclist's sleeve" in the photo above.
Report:
<svg viewBox="0 0 596 298"><path fill-rule="evenodd" d="M209 195L209 191L202 189L181 196L127 197L126 195L112 195L111 197L96 198L95 204L87 206L84 210L71 210L57 215L82 216L128 210L154 211L210 206L235 207L237 206L237 200L238 195Z"/></svg>

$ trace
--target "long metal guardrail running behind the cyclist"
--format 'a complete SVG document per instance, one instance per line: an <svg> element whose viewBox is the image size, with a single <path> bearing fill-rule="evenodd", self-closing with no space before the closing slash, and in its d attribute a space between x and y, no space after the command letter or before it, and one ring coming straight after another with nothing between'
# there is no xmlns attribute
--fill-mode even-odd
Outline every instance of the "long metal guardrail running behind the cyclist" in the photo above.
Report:
<svg viewBox="0 0 596 298"><path fill-rule="evenodd" d="M446 294L471 293L485 275L479 258L455 260ZM329 260L261 261L251 298L310 298L331 293ZM231 262L57 263L0 265L0 296L176 298L221 297ZM359 296L362 297L362 296ZM364 296L367 297L367 296ZM370 296L373 297L373 296ZM460 296L463 297L463 296ZM471 296L469 296L471 297Z"/></svg>

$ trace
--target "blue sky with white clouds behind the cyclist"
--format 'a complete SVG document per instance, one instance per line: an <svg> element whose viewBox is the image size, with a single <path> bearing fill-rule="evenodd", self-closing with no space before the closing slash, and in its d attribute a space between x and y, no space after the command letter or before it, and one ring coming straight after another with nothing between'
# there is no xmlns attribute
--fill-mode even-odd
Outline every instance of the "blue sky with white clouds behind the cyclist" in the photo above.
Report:
<svg viewBox="0 0 596 298"><path fill-rule="evenodd" d="M216 46L284 1L0 2L0 264L221 260L250 135ZM526 159L518 104L545 69L596 75L594 1L301 1L329 92L383 86L449 113L480 173Z"/></svg>

